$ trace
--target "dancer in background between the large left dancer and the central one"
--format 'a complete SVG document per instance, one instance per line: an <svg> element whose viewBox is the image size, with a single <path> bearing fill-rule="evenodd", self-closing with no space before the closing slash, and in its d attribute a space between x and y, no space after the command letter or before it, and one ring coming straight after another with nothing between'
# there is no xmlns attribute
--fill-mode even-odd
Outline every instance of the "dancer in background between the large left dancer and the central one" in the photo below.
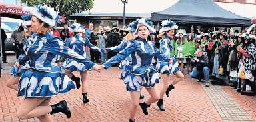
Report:
<svg viewBox="0 0 256 122"><path fill-rule="evenodd" d="M97 52L103 52L104 50L99 49L99 47L96 47L95 45L91 44L89 39L87 37L82 38L83 33L85 33L85 29L79 24L79 23L73 23L69 27L69 31L75 33L75 37L71 37L69 39L66 39L65 44L67 47L73 49L76 53L79 55L83 55L83 57L86 57L85 47L88 46L91 50L97 51ZM87 97L87 90L88 90L88 83L86 81L87 71L89 70L89 67L87 65L84 65L83 63L79 63L79 61L76 61L74 59L65 59L63 62L63 68L65 69L65 73L71 78L75 83L77 84L77 89L80 87L80 78L75 77L73 75L72 71L79 71L80 77L82 81L82 96L83 96L83 103L88 103L89 99Z"/></svg>

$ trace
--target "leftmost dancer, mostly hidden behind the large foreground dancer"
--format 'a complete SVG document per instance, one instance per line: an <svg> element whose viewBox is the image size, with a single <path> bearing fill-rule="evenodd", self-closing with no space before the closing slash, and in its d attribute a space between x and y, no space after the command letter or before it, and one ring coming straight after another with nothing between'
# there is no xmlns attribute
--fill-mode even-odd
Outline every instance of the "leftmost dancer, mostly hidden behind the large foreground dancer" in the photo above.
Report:
<svg viewBox="0 0 256 122"><path fill-rule="evenodd" d="M27 45L31 44L30 41L32 41L31 39L29 39L29 36L31 35L31 17L32 15L22 15L21 18L23 19L22 22L22 26L25 29L25 41L23 43L23 49L21 50L21 55L19 55L19 58L17 61L20 61L23 57L25 57L26 55L26 51L27 51ZM15 65L11 68L11 78L8 79L6 86L14 89L15 91L18 90L18 82L19 82L19 78L21 77L21 72L25 71L25 69L29 68L29 64L28 61L25 63L24 66L18 68Z"/></svg>

